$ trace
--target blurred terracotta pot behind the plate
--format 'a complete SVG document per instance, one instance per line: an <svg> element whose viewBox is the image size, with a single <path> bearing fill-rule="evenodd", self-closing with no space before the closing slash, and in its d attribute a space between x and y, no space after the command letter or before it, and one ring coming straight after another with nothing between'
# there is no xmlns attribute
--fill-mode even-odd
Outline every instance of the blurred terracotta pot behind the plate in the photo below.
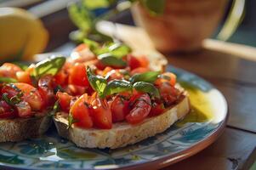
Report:
<svg viewBox="0 0 256 170"><path fill-rule="evenodd" d="M145 28L156 49L190 52L202 47L221 20L227 0L166 0L164 14L152 16L139 3L132 12L136 24Z"/></svg>

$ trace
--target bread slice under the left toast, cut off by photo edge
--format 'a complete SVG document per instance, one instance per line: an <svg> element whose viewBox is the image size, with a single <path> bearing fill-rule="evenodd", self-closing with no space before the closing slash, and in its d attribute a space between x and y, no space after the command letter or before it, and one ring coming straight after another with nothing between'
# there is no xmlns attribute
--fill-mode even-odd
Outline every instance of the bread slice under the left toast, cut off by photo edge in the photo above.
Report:
<svg viewBox="0 0 256 170"><path fill-rule="evenodd" d="M17 142L37 137L50 127L52 117L35 116L31 118L0 119L0 142Z"/></svg>

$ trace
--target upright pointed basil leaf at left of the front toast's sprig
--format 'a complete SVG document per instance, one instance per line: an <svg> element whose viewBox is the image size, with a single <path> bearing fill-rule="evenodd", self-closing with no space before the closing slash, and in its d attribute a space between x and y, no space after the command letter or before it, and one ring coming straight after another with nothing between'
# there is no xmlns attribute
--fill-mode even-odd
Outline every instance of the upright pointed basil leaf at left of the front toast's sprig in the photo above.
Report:
<svg viewBox="0 0 256 170"><path fill-rule="evenodd" d="M100 98L103 98L104 90L107 84L106 79L104 77L94 75L89 67L87 68L87 77L91 87L94 88L94 90L100 95Z"/></svg>

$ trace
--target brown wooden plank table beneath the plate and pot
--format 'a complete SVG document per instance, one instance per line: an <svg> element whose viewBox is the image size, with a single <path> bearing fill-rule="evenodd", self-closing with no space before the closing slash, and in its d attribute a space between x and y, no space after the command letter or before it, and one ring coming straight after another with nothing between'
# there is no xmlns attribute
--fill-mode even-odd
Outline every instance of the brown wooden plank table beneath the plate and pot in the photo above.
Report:
<svg viewBox="0 0 256 170"><path fill-rule="evenodd" d="M114 34L132 48L154 51L142 29L102 23L100 30ZM69 42L55 51L69 52ZM212 82L225 95L229 119L225 132L207 149L164 169L240 169L250 167L256 154L256 48L206 40L194 54L165 54L169 64ZM248 159L249 157L252 157Z"/></svg>

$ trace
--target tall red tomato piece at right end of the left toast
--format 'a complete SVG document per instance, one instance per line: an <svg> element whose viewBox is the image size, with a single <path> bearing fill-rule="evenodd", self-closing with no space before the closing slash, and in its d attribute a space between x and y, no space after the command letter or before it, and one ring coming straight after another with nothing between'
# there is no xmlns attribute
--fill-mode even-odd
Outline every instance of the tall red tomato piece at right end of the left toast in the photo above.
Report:
<svg viewBox="0 0 256 170"><path fill-rule="evenodd" d="M54 105L56 99L54 95L54 84L52 75L46 75L39 79L38 91L43 99L43 107Z"/></svg>

